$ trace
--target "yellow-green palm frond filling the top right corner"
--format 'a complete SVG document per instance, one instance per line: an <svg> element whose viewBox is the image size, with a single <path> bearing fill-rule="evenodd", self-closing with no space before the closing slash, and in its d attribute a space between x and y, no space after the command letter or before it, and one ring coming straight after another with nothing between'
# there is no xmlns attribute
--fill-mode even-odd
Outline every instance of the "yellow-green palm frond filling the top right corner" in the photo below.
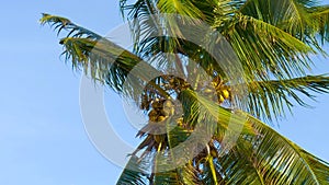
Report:
<svg viewBox="0 0 329 185"><path fill-rule="evenodd" d="M327 33L327 9L314 0L247 0L239 12L272 24L325 54L319 41L324 42Z"/></svg>

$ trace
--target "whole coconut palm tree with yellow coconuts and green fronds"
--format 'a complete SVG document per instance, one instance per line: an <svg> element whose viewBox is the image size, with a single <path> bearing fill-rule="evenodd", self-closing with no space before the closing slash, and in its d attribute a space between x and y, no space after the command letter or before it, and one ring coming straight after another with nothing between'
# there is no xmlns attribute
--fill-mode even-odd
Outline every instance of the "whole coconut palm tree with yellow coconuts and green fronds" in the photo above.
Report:
<svg viewBox="0 0 329 185"><path fill-rule="evenodd" d="M329 184L329 163L265 124L295 104L307 106L304 97L329 92L329 77L309 74L310 56L327 55L321 46L329 41L329 7L316 0L121 0L121 10L134 36L131 51L65 18L41 19L68 32L60 39L66 60L133 99L148 116L117 184ZM212 32L197 35L204 23ZM220 54L219 63L212 54ZM234 60L240 77L227 71ZM159 76L131 78L140 63ZM145 88L136 93L135 84ZM227 148L225 132L238 127ZM201 142L206 137L195 132L209 138ZM173 152L188 141L190 148Z"/></svg>

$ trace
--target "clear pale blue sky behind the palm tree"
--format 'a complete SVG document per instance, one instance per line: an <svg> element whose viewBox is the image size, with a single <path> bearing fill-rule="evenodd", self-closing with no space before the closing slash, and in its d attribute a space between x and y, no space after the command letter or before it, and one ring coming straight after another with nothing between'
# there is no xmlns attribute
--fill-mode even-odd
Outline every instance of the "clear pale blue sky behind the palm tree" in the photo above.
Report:
<svg viewBox="0 0 329 185"><path fill-rule="evenodd" d="M1 2L0 184L114 184L122 169L89 141L79 108L80 73L59 57L56 34L39 26L43 12L67 16L103 35L122 23L116 0ZM329 73L328 59L315 60L317 73ZM107 112L117 113L115 128L136 143L131 135L136 130L120 119L121 101L106 95ZM315 108L297 106L276 130L329 161L329 94L311 105Z"/></svg>

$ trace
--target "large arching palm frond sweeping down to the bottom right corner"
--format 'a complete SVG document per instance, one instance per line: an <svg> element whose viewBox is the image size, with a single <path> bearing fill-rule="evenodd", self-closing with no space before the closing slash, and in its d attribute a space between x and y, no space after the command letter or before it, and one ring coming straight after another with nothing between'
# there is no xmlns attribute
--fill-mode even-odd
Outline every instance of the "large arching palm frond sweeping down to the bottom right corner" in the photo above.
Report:
<svg viewBox="0 0 329 185"><path fill-rule="evenodd" d="M309 78L309 88L314 91L322 91L319 84ZM286 82L288 83L288 82ZM293 83L293 82L291 82ZM192 93L192 92L186 92ZM193 94L193 93L192 93ZM192 95L191 94L191 95ZM214 107L212 102L206 102L198 97L202 106ZM219 105L217 105L219 106ZM191 106L190 106L191 107ZM193 106L192 106L193 107ZM213 108L212 108L213 109ZM208 112L213 112L208 109ZM216 178L226 184L326 184L329 181L329 164L311 155L288 139L280 136L275 130L264 123L256 119L249 114L242 112L232 113L223 109L230 117L234 114L247 117L245 129L253 129L253 132L242 131L237 140L237 144L223 158L212 159L217 169ZM217 114L220 114L217 111ZM223 114L219 116L219 129L227 131L223 127ZM209 115L208 115L209 116ZM206 120L205 123L209 123ZM224 124L225 125L225 124ZM222 130L223 131L223 130ZM220 130L218 131L220 132ZM216 132L214 137L222 144L223 135ZM218 153L223 148L218 147ZM212 171L211 166L209 171ZM205 169L203 169L205 170ZM222 172L222 173L220 173ZM218 174L217 174L218 173ZM214 173L212 173L214 175ZM245 175L245 177L243 177ZM249 176L250 175L250 176ZM215 180L208 174L207 180ZM211 181L211 180L209 180Z"/></svg>

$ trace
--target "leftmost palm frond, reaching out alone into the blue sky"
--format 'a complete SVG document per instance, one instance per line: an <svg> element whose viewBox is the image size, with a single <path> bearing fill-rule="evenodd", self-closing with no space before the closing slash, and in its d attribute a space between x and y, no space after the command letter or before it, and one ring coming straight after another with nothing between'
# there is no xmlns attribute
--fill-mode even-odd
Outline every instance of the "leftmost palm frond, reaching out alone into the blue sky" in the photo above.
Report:
<svg viewBox="0 0 329 185"><path fill-rule="evenodd" d="M138 56L67 19L44 14L41 22L55 26L58 32L63 30L68 32L67 37L60 41L65 48L63 55L66 61L71 61L76 69L83 68L91 78L107 83L116 92L127 91L124 93L134 97L134 93L129 91L134 89L134 84L147 83L150 74L159 73ZM132 69L138 63L144 65L145 71L136 71L133 74L135 77L129 79L135 81L126 81L127 76L132 76ZM132 86L124 89L125 82L127 86ZM163 96L168 95L158 85L154 85Z"/></svg>

